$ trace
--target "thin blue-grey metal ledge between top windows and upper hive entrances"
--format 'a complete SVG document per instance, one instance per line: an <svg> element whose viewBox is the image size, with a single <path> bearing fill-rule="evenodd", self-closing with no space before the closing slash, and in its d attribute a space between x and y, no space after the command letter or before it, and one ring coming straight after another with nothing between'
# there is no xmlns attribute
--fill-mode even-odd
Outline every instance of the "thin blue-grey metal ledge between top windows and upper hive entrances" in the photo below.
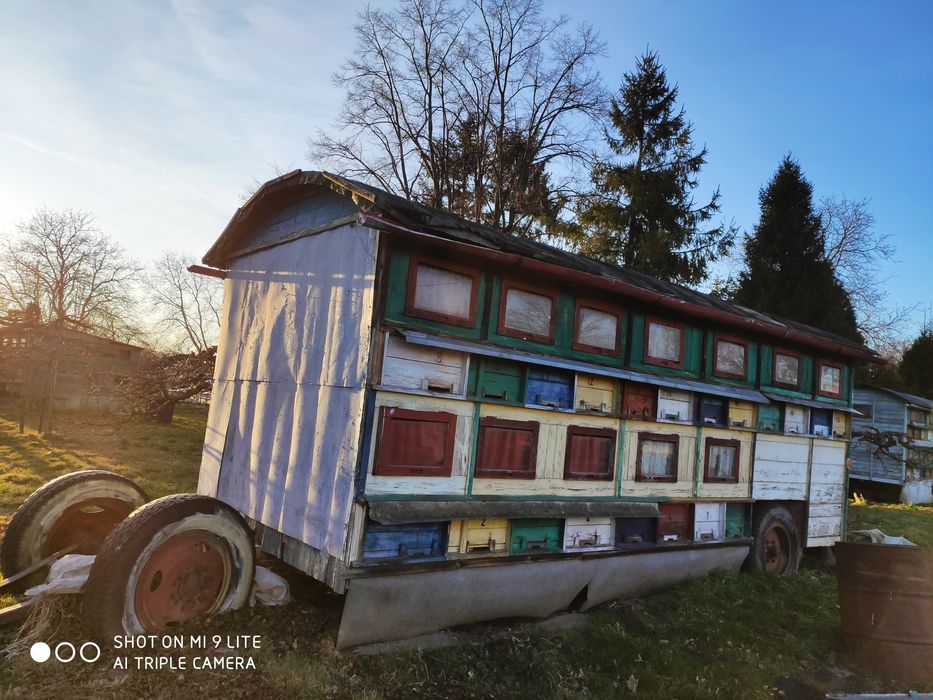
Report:
<svg viewBox="0 0 933 700"><path fill-rule="evenodd" d="M577 360L564 360L559 357L549 357L539 355L538 353L524 352L522 350L509 350L499 348L493 345L484 345L482 343L473 343L468 340L456 340L454 338L441 338L439 336L422 333L421 331L400 330L399 331L410 343L416 345L427 345L429 347L444 348L446 350L457 350L459 352L469 352L475 355L485 355L487 357L498 357L503 360L515 360L518 362L528 362L530 364L543 365L545 367L557 367L559 369L572 370L574 372L584 372L586 374L598 374L604 377L614 379L627 379L634 382L643 382L653 384L668 389L682 389L684 391L695 391L703 394L712 394L714 396L724 396L739 401L752 401L754 403L770 403L768 398L760 391L754 389L739 389L737 387L721 386L718 384L706 384L691 379L677 379L673 377L660 377L644 372L634 372L627 369L615 369L613 367L603 367L600 365L589 364L588 362L579 362ZM780 399L785 401L786 399ZM821 407L825 407L821 404Z"/></svg>

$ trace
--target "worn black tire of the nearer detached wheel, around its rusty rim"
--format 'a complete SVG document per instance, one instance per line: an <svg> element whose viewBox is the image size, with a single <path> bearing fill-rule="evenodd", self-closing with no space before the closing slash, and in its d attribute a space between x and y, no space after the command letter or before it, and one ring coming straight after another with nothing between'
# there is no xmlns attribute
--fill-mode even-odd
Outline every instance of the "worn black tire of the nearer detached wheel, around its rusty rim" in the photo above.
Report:
<svg viewBox="0 0 933 700"><path fill-rule="evenodd" d="M207 530L223 539L231 562L223 600L211 614L234 610L249 601L253 590L253 532L243 516L208 496L178 494L147 503L110 533L97 556L84 594L84 615L94 636L107 641L118 635L152 634L135 611L139 574L151 551L172 535Z"/></svg>

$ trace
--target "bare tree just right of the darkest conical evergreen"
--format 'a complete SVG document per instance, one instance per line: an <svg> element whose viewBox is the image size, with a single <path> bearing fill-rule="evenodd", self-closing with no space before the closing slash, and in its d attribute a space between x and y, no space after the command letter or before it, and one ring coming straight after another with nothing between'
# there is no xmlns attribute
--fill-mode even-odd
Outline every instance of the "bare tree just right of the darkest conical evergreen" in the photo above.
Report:
<svg viewBox="0 0 933 700"><path fill-rule="evenodd" d="M876 349L896 349L905 322L914 306L888 307L884 283L879 275L882 262L894 259L891 236L875 229L875 217L868 199L843 196L824 197L818 215L826 245L826 257L832 264L855 309L859 331Z"/></svg>

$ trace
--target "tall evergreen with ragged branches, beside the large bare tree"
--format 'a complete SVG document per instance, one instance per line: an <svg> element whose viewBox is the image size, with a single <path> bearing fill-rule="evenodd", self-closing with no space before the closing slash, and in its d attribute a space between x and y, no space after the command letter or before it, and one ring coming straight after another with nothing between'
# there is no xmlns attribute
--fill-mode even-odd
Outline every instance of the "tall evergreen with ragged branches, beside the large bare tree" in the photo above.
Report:
<svg viewBox="0 0 933 700"><path fill-rule="evenodd" d="M595 191L578 207L571 241L604 262L672 282L702 281L735 231L703 228L719 211L719 191L694 206L706 148L695 149L693 125L677 108L677 86L668 84L657 53L644 54L625 74L609 116L614 133L606 136L618 158L593 168Z"/></svg>

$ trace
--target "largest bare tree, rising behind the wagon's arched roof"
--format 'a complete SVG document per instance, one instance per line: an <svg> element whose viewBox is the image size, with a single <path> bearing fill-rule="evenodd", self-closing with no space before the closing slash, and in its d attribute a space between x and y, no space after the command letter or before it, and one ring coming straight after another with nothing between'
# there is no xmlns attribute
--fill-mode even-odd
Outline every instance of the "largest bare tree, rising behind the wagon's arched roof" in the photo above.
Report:
<svg viewBox="0 0 933 700"><path fill-rule="evenodd" d="M566 201L605 109L603 46L541 0L402 0L359 15L337 133L309 156L348 177L533 234Z"/></svg>

